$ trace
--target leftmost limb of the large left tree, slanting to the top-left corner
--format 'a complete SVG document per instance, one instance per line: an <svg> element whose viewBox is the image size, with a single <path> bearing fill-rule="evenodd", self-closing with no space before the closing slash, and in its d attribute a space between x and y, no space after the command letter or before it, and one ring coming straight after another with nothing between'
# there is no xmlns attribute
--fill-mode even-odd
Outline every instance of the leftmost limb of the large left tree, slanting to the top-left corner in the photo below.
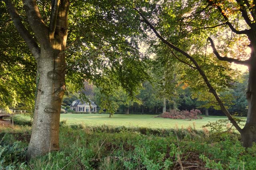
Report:
<svg viewBox="0 0 256 170"><path fill-rule="evenodd" d="M25 40L26 44L28 45L29 50L32 52L33 56L37 59L40 57L40 48L36 41L32 38L31 34L25 28L20 20L20 16L13 6L11 0L4 0L6 7L8 8L9 14L12 18L12 22L16 27L17 31L19 32L20 36Z"/></svg>

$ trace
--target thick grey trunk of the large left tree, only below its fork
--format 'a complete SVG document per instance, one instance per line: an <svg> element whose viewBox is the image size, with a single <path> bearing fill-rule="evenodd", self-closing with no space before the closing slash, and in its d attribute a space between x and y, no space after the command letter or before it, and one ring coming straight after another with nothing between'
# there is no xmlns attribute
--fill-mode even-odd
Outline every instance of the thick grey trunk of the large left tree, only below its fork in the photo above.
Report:
<svg viewBox="0 0 256 170"><path fill-rule="evenodd" d="M38 90L32 135L26 158L59 149L59 122L65 91L65 54L42 50L38 60Z"/></svg>

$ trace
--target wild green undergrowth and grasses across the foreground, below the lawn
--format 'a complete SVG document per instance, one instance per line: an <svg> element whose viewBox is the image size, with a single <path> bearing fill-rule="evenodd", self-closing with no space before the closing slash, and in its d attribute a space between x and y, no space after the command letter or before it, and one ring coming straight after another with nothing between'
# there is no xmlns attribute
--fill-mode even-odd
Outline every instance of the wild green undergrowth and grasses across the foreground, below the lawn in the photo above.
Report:
<svg viewBox="0 0 256 170"><path fill-rule="evenodd" d="M256 145L246 149L232 133L213 140L212 133L195 128L69 126L65 122L60 127L60 150L25 162L28 141L23 138L29 133L24 128L26 133L17 130L19 135L15 129L0 132L0 169L256 169Z"/></svg>

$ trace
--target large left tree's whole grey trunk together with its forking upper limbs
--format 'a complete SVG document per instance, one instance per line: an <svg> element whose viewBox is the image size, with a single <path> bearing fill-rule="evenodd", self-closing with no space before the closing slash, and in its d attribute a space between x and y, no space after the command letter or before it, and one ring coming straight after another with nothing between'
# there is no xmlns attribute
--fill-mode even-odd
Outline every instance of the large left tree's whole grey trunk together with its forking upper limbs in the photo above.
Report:
<svg viewBox="0 0 256 170"><path fill-rule="evenodd" d="M45 24L35 0L23 0L36 40L22 24L11 0L4 0L17 31L36 59L38 88L32 134L26 159L59 149L59 123L65 91L65 48L69 0L52 0L50 23Z"/></svg>

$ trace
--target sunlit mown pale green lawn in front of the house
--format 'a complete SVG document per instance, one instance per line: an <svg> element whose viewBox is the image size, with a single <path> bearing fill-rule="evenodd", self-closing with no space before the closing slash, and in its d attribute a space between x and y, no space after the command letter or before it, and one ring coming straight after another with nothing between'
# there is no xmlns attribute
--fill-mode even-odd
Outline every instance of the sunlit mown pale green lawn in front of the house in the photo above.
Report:
<svg viewBox="0 0 256 170"><path fill-rule="evenodd" d="M88 126L127 126L127 127L147 127L147 128L184 128L194 126L201 129L208 122L215 122L220 119L227 119L225 116L209 116L198 120L180 120L168 118L154 118L156 115L148 114L114 114L109 118L109 114L61 114L60 121L66 120L67 124L84 124Z"/></svg>

